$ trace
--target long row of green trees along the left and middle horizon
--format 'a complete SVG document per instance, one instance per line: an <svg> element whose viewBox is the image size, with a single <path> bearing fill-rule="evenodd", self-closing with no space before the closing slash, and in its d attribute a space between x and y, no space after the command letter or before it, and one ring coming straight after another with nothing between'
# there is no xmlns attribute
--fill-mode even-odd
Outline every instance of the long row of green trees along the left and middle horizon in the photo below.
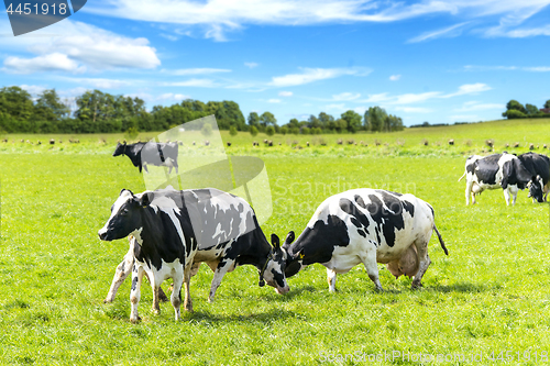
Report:
<svg viewBox="0 0 550 366"><path fill-rule="evenodd" d="M0 131L7 133L111 133L125 131L165 131L182 123L213 114L220 130L318 134L389 132L404 129L403 120L372 107L363 115L349 110L339 118L321 112L304 121L292 119L279 125L273 113L251 112L244 118L234 101L186 99L169 107L155 106L148 112L138 97L112 96L89 90L75 99L75 108L62 100L55 89L46 89L33 98L20 87L0 89Z"/></svg>

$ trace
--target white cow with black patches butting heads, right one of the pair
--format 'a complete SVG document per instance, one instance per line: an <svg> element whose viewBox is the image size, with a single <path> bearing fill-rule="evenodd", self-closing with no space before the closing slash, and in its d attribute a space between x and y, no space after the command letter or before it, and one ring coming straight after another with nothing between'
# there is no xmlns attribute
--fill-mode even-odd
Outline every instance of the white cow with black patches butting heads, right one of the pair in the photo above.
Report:
<svg viewBox="0 0 550 366"><path fill-rule="evenodd" d="M377 263L383 263L396 277L399 273L414 276L416 288L431 263L428 242L433 230L448 254L427 202L381 189L349 190L324 200L296 242L294 232L288 233L283 245L288 255L285 274L290 277L320 263L327 267L329 290L336 291L337 274L363 263L376 289L382 290ZM410 262L411 255L418 265L404 268L402 258Z"/></svg>

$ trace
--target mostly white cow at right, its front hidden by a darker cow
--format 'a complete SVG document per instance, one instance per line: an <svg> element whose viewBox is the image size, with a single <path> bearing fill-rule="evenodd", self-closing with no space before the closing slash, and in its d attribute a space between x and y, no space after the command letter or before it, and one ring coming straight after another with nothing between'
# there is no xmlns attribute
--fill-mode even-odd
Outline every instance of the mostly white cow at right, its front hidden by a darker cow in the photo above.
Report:
<svg viewBox="0 0 550 366"><path fill-rule="evenodd" d="M475 204L475 195L485 189L503 188L506 204L516 204L517 192L525 189L535 179L516 155L503 153L481 157L470 156L466 159L465 171L459 181L466 176L466 204Z"/></svg>

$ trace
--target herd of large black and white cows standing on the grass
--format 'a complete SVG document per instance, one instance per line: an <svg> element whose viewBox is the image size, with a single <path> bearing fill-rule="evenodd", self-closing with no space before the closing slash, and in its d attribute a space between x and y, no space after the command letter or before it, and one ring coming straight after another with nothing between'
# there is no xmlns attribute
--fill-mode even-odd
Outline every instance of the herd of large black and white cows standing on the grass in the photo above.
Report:
<svg viewBox="0 0 550 366"><path fill-rule="evenodd" d="M152 146L162 158L150 164L177 169L177 155L164 153L165 145ZM133 158L141 153L119 144L113 155L129 155L141 169L142 164ZM517 190L527 187L534 200L542 202L548 195L550 160L535 153L474 155L468 158L460 179L464 176L466 204L470 195L475 203L476 193L496 187L504 189L507 203L512 195L514 204ZM283 245L278 236L272 234L270 245L254 210L240 197L213 188L175 190L168 187L138 195L122 189L111 207L110 218L98 232L102 241L128 236L130 242L105 301L114 299L131 273L130 320L136 322L143 276L153 289L155 313L160 312L160 300L166 299L161 284L173 278L170 302L178 320L182 302L185 310L193 310L190 278L201 263L213 271L208 301L213 301L226 273L242 265L256 267L258 285L267 284L278 293L289 290L288 277L315 263L327 267L330 291L336 291L337 274L348 273L361 263L377 290L383 290L377 263L386 264L396 278L414 277L411 287L417 288L431 263L428 243L433 231L448 255L429 203L413 195L361 188L326 199L296 241L290 231Z"/></svg>

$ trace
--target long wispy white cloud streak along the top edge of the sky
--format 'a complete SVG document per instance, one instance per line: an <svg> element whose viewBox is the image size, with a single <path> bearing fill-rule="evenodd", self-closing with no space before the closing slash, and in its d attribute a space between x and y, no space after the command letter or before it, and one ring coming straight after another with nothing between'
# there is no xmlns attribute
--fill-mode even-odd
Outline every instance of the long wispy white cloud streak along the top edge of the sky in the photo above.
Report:
<svg viewBox="0 0 550 366"><path fill-rule="evenodd" d="M205 37L227 41L226 33L242 30L251 24L312 25L353 22L395 22L426 15L458 19L480 19L480 32L502 36L547 34L546 29L509 30L540 12L548 0L120 0L89 3L87 12L106 16L146 22L179 24L196 27ZM484 23L499 20L499 25L483 30ZM416 38L420 42L453 35L463 24L457 24ZM182 31L184 32L184 31ZM185 30L189 32L189 30ZM514 33L516 32L516 34Z"/></svg>

